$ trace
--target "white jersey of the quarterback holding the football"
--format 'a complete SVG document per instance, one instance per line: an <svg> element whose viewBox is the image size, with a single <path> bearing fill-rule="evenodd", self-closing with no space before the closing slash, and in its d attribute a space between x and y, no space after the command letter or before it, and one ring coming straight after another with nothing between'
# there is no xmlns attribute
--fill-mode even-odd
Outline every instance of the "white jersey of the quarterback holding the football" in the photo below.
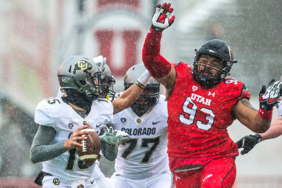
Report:
<svg viewBox="0 0 282 188"><path fill-rule="evenodd" d="M90 124L99 133L103 125L112 120L113 106L107 99L93 101L91 111L86 118L82 118L60 97L41 101L35 109L34 118L37 124L52 126L57 131L51 145L67 140L84 123ZM73 181L90 178L94 165L88 167L83 164L74 148L54 159L44 161L43 171L62 180Z"/></svg>

